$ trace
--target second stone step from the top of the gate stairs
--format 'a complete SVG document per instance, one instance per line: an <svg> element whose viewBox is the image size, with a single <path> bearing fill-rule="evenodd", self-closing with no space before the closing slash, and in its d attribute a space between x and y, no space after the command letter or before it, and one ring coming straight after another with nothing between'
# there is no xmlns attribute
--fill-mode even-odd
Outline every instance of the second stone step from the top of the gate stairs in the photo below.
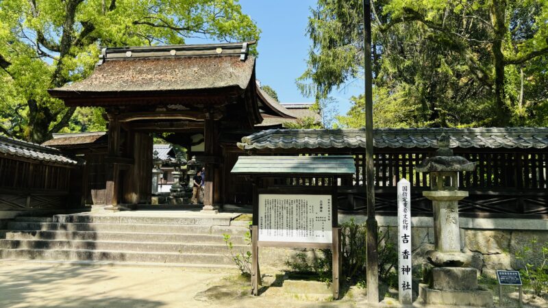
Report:
<svg viewBox="0 0 548 308"><path fill-rule="evenodd" d="M8 222L10 230L43 231L95 231L95 232L139 232L139 233L183 233L245 235L246 227L176 225L176 224L103 224L103 223L66 223L66 222Z"/></svg>

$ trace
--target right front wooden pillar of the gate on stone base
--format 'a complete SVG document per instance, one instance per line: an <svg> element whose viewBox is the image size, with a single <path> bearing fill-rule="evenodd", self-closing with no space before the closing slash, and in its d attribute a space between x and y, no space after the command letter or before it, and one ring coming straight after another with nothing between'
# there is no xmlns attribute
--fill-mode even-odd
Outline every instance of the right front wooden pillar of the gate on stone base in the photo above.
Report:
<svg viewBox="0 0 548 308"><path fill-rule="evenodd" d="M203 191L203 208L201 211L208 213L217 213L214 206L214 179L215 165L214 155L216 146L216 125L213 116L210 112L206 113L206 120L203 123L203 142L206 154L206 185Z"/></svg>

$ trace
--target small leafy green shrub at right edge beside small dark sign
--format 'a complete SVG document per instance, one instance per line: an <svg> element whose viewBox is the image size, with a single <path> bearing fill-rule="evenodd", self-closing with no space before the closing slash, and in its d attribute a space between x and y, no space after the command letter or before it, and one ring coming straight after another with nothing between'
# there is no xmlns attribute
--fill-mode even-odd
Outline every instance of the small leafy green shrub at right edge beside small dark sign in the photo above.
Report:
<svg viewBox="0 0 548 308"><path fill-rule="evenodd" d="M532 261L531 255L540 255ZM516 252L516 261L525 286L530 287L534 296L548 293L548 243L538 243L535 238L522 251Z"/></svg>

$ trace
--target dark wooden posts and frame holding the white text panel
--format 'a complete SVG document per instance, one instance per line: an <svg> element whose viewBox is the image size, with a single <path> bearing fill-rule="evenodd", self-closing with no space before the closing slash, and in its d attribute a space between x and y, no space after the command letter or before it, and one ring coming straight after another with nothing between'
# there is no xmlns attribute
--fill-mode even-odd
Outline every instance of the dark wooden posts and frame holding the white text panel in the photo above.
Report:
<svg viewBox="0 0 548 308"><path fill-rule="evenodd" d="M259 248L320 248L332 250L333 298L340 297L340 274L342 273L342 262L340 260L340 228L338 227L338 201L336 177L332 177L332 190L326 192L326 186L301 186L301 187L270 187L257 188L253 185L253 224L251 224L251 294L259 295L261 275L259 267ZM261 181L262 182L262 181ZM332 243L310 243L310 242L260 242L259 241L259 194L286 194L286 195L331 195L332 200Z"/></svg>

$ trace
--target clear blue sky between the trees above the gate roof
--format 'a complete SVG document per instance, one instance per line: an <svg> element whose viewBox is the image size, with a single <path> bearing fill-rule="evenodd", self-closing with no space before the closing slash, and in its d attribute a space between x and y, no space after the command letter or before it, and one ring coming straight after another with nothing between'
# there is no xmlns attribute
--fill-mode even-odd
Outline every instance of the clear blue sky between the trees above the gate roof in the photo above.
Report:
<svg viewBox="0 0 548 308"><path fill-rule="evenodd" d="M306 34L310 7L314 0L240 0L242 11L262 30L258 42L257 79L271 86L282 103L312 102L303 97L295 79L306 70L310 38ZM363 81L356 80L343 90L333 90L339 114L350 107L349 98L363 92Z"/></svg>

